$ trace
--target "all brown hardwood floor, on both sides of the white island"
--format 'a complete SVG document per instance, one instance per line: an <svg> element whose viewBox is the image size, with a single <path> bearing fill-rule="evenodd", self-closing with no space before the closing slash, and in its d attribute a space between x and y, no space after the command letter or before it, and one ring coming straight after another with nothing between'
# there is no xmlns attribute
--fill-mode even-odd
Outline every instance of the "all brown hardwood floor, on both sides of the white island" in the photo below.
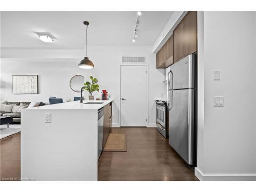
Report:
<svg viewBox="0 0 256 192"><path fill-rule="evenodd" d="M102 152L99 181L198 181L194 170L154 128L112 128L127 134L127 152ZM20 178L20 133L0 140L0 179Z"/></svg>

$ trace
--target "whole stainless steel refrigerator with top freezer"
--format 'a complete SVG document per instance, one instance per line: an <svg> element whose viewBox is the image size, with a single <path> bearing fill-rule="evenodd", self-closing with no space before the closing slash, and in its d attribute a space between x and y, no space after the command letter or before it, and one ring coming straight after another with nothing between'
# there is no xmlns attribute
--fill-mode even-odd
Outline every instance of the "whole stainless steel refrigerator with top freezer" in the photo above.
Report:
<svg viewBox="0 0 256 192"><path fill-rule="evenodd" d="M194 165L196 55L188 55L169 69L167 73L169 144L189 165Z"/></svg>

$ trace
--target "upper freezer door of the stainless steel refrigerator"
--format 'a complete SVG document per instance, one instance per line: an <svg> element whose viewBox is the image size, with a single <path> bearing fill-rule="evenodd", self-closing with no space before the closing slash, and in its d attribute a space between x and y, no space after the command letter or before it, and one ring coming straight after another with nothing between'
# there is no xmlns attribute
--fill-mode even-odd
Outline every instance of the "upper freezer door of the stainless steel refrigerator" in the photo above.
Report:
<svg viewBox="0 0 256 192"><path fill-rule="evenodd" d="M173 87L170 86L169 90L195 88L195 58L195 55L188 55L170 66L173 73L173 77L170 77L173 82L170 84Z"/></svg>

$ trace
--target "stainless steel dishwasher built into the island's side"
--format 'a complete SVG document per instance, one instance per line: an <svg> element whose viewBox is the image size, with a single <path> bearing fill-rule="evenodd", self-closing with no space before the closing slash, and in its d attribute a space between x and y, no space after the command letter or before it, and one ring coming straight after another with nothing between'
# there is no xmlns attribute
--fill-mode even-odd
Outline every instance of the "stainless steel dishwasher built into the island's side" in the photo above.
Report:
<svg viewBox="0 0 256 192"><path fill-rule="evenodd" d="M98 110L98 160L103 150L103 108Z"/></svg>

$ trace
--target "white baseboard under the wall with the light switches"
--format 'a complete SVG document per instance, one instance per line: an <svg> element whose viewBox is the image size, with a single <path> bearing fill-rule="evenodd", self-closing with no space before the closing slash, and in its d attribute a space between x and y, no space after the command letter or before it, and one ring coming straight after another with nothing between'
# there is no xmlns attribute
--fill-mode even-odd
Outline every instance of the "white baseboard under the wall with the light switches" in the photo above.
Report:
<svg viewBox="0 0 256 192"><path fill-rule="evenodd" d="M195 176L200 181L256 181L256 174L203 174L197 167Z"/></svg>

